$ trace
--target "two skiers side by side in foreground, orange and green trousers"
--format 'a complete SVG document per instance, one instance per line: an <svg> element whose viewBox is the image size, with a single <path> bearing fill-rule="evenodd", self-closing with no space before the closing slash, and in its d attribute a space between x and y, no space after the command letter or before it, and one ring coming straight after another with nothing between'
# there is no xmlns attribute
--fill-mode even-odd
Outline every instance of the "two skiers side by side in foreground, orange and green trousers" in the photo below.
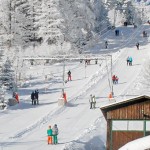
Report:
<svg viewBox="0 0 150 150"><path fill-rule="evenodd" d="M51 126L48 127L47 129L47 143L48 144L58 144L58 127L57 124L55 124L53 126L53 128L51 128Z"/></svg>

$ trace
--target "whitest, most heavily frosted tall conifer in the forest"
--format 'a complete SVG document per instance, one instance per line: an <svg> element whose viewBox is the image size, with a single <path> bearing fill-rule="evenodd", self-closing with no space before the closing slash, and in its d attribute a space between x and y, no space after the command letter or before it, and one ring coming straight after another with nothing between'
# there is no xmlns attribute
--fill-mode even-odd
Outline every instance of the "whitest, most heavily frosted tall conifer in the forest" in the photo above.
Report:
<svg viewBox="0 0 150 150"><path fill-rule="evenodd" d="M63 34L61 32L61 15L58 10L58 0L42 1L42 16L40 19L40 34L48 45L58 44Z"/></svg>

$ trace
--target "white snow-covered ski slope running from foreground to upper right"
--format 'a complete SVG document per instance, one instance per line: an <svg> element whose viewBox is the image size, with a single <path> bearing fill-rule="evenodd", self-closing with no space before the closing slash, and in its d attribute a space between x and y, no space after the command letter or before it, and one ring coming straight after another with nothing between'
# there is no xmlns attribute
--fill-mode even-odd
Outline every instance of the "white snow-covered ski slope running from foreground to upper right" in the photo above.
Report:
<svg viewBox="0 0 150 150"><path fill-rule="evenodd" d="M121 101L144 94L142 90L141 93L136 93L135 85L138 84L137 78L145 61L150 57L148 38L142 37L143 30L150 34L150 26L141 25L137 29L132 26L118 28L122 33L120 36L115 37L114 30L110 30L104 37L100 37L103 40L99 45L102 47L106 38L109 41L106 51L111 51L112 72L119 77L119 84L114 85L113 89L116 101ZM140 50L135 47L137 41L140 43ZM95 51L101 53L104 49ZM132 56L133 66L127 66L128 56ZM29 86L19 89L20 103L0 112L0 148L104 150L106 122L99 108L111 103L108 100L111 61L106 59L98 63L101 65L91 61L91 65L85 67L84 63L66 62L66 74L68 70L72 72L72 81L65 84L68 99L66 106L58 106L57 103L63 85L63 64L28 67L26 76L30 76ZM51 79L45 81L45 75ZM40 105L33 106L30 94L35 89L39 89ZM89 109L90 94L96 96L95 110ZM59 128L59 144L47 145L47 128L54 124Z"/></svg>

